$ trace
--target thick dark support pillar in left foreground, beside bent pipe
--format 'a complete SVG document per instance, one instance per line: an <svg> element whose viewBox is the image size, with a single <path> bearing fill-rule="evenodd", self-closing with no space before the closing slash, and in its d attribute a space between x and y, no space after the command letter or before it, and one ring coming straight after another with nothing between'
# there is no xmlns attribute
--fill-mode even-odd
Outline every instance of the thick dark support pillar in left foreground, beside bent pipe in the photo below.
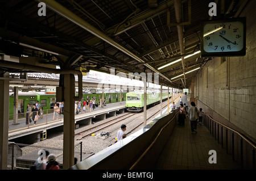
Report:
<svg viewBox="0 0 256 181"><path fill-rule="evenodd" d="M64 74L63 169L74 165L75 146L75 76Z"/></svg>

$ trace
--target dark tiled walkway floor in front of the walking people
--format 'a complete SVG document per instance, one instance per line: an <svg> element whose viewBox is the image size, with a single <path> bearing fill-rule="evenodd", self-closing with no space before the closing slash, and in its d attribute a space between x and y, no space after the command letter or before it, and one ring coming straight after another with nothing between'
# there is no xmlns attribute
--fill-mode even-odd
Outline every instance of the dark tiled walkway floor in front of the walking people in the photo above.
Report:
<svg viewBox="0 0 256 181"><path fill-rule="evenodd" d="M210 150L216 150L217 163L209 163ZM212 158L212 157L211 157ZM191 133L189 119L185 125L176 125L166 147L160 155L155 169L159 170L229 170L241 169L226 154L204 125L197 125L197 133Z"/></svg>

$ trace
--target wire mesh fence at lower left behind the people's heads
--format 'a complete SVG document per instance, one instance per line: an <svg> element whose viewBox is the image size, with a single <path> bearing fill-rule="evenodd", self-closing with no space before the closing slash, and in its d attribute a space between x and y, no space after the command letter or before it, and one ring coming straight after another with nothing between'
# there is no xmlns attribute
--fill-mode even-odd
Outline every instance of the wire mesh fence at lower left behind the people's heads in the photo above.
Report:
<svg viewBox="0 0 256 181"><path fill-rule="evenodd" d="M49 154L55 154L56 161L59 163L60 169L63 166L63 149L51 148L37 145L17 144L15 142L9 142L8 144L8 161L7 169L9 170L28 170L34 165L36 159L40 157L42 150L49 151ZM75 145L77 154L82 159L82 142Z"/></svg>

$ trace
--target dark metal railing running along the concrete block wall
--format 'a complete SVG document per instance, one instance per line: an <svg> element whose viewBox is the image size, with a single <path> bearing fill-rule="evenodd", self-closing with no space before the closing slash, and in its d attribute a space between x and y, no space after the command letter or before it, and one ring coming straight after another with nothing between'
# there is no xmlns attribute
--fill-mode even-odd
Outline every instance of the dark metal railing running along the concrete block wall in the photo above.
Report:
<svg viewBox="0 0 256 181"><path fill-rule="evenodd" d="M231 154L233 161L240 163L242 169L255 170L255 144L242 133L214 120L203 114L203 124L208 128L210 134Z"/></svg>

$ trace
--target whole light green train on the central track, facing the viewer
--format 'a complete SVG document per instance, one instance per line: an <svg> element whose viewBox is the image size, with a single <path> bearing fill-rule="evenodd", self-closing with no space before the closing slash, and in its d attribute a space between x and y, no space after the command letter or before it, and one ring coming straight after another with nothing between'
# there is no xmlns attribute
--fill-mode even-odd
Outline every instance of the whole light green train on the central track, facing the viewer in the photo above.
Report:
<svg viewBox="0 0 256 181"><path fill-rule="evenodd" d="M172 94L169 92L169 98ZM147 92L147 107L155 106L160 103L160 91ZM168 99L168 92L162 92L162 100ZM126 93L126 109L127 111L140 112L144 107L144 92L127 92Z"/></svg>

